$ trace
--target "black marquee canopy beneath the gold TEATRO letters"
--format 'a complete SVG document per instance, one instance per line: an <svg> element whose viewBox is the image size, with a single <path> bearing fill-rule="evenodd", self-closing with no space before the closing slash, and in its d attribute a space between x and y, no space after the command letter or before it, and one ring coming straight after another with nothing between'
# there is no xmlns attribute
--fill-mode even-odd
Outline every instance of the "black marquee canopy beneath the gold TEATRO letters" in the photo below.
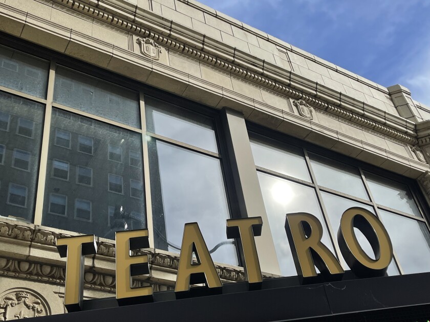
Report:
<svg viewBox="0 0 430 322"><path fill-rule="evenodd" d="M347 280L349 278L353 278ZM315 281L317 282L317 281ZM84 301L81 312L34 318L69 321L427 321L430 273L299 285L297 278L263 281L261 290L232 283L218 295L176 300L174 291L154 293L154 302L118 307L115 298Z"/></svg>

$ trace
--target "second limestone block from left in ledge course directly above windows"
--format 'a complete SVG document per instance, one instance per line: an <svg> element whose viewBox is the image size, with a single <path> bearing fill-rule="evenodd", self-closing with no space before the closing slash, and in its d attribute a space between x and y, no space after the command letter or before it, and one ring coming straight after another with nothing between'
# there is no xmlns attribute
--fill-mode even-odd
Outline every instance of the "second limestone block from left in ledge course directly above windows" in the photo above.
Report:
<svg viewBox="0 0 430 322"><path fill-rule="evenodd" d="M61 53L66 51L70 41L70 29L31 17L27 17L26 20L26 25L21 33L22 38Z"/></svg>

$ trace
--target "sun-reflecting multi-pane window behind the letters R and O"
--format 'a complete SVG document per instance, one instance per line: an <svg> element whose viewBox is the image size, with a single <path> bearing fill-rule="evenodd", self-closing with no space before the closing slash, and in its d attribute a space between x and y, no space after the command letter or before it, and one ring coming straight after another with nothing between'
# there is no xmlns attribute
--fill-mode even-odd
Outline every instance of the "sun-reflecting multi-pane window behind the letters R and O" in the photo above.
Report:
<svg viewBox="0 0 430 322"><path fill-rule="evenodd" d="M295 212L313 214L321 221L322 242L335 251L343 268L349 269L337 245L337 232L343 212L352 207L369 210L386 226L395 251L395 258L388 268L389 275L397 275L400 271L430 271L430 234L418 202L405 183L304 149L272 143L254 134L251 137L252 153L283 275L296 274L284 230L285 214ZM375 259L369 241L359 229L354 228L354 231L363 251Z"/></svg>

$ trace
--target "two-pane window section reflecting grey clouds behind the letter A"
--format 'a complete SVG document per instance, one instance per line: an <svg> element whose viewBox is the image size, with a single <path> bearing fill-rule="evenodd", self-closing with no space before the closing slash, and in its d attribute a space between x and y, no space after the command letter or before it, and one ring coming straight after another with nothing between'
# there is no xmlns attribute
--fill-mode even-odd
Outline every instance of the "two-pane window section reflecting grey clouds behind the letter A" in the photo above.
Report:
<svg viewBox="0 0 430 322"><path fill-rule="evenodd" d="M212 259L237 265L213 121L150 98L145 106L155 247L179 252L184 224L198 222Z"/></svg>

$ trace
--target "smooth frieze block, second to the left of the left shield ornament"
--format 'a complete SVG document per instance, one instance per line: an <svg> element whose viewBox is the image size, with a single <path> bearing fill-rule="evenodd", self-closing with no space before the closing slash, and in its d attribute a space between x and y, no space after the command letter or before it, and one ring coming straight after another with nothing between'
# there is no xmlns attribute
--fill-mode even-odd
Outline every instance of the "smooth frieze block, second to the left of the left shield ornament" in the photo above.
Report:
<svg viewBox="0 0 430 322"><path fill-rule="evenodd" d="M82 34L91 36L93 25L92 18L71 11L68 8L54 6L52 8L51 21L67 29L76 30Z"/></svg>

